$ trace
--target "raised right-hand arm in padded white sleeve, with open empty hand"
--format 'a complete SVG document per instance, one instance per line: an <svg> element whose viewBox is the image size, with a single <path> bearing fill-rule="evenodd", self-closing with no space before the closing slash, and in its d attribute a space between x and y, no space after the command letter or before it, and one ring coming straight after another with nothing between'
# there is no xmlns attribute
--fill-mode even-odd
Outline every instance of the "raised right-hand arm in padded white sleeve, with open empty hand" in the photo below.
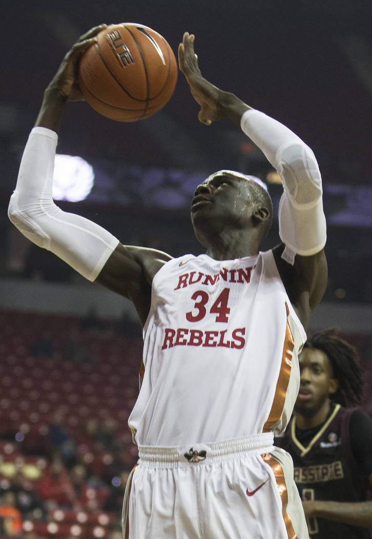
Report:
<svg viewBox="0 0 372 539"><path fill-rule="evenodd" d="M313 151L282 123L203 78L194 52L194 36L188 32L179 45L179 65L200 105L199 120L205 125L222 118L233 121L263 151L282 178L284 192L279 205L279 235L285 248L280 249L282 259L276 259L287 293L306 326L327 282L323 252L326 221L321 176Z"/></svg>

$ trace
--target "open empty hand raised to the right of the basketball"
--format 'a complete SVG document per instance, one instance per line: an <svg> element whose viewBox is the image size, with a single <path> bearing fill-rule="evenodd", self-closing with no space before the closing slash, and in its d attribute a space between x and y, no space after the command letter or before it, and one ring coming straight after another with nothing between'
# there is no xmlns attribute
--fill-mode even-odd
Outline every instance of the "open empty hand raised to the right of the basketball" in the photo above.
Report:
<svg viewBox="0 0 372 539"><path fill-rule="evenodd" d="M194 52L194 39L193 34L184 33L183 42L178 47L179 68L186 77L195 101L200 105L199 121L209 126L213 121L225 117L218 106L223 92L202 77Z"/></svg>

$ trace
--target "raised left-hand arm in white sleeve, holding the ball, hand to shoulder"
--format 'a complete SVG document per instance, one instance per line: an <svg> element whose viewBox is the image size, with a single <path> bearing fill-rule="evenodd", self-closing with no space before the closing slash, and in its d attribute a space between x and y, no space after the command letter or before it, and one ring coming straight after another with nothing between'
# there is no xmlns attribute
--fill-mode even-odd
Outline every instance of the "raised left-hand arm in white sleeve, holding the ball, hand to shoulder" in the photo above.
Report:
<svg viewBox="0 0 372 539"><path fill-rule="evenodd" d="M79 59L104 26L90 30L76 42L48 85L26 143L8 214L34 244L52 251L86 279L134 301L144 320L153 274L170 257L148 249L125 247L101 226L62 211L52 199L61 115L68 100L83 99L77 78Z"/></svg>

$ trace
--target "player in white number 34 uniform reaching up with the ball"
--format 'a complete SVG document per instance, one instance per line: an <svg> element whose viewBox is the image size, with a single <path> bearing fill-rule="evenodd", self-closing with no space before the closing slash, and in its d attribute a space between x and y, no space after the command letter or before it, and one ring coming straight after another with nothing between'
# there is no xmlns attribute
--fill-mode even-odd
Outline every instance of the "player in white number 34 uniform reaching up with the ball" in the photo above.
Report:
<svg viewBox="0 0 372 539"><path fill-rule="evenodd" d="M62 110L82 99L83 36L47 87L26 144L9 216L23 234L90 281L129 298L143 324L142 385L129 426L138 465L128 481L129 539L308 537L291 458L273 446L299 386L298 351L327 280L321 177L314 154L281 123L205 80L194 36L180 70L209 125L228 118L283 179L282 243L259 252L272 205L266 190L222 170L196 187L191 220L206 254L173 259L122 245L52 201Z"/></svg>

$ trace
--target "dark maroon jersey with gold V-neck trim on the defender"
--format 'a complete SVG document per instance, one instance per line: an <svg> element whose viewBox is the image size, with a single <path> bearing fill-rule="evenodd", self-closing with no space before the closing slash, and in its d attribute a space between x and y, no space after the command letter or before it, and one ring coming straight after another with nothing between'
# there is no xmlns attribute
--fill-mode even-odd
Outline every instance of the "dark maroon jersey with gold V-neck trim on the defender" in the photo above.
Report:
<svg viewBox="0 0 372 539"><path fill-rule="evenodd" d="M297 429L293 418L283 437L275 439L275 445L292 456L301 499L366 501L369 474L357 462L350 444L350 417L355 410L336 404L324 424L306 431ZM371 538L367 528L340 522L311 517L307 524L311 539Z"/></svg>

